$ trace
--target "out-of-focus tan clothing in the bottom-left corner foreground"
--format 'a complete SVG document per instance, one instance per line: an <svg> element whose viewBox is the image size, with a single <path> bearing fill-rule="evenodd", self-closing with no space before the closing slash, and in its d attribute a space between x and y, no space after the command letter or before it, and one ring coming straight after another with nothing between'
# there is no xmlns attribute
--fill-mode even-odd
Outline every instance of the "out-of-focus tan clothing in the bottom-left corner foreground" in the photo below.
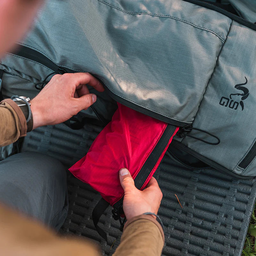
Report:
<svg viewBox="0 0 256 256"><path fill-rule="evenodd" d="M99 256L98 248L82 239L62 238L0 203L1 255Z"/></svg>

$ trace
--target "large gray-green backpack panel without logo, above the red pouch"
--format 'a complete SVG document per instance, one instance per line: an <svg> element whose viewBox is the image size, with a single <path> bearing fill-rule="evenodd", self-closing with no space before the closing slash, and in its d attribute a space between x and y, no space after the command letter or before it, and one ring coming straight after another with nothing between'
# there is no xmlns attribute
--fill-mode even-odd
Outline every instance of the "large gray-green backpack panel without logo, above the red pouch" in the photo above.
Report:
<svg viewBox="0 0 256 256"><path fill-rule="evenodd" d="M99 76L126 101L192 123L230 24L180 0L52 0L23 44Z"/></svg>

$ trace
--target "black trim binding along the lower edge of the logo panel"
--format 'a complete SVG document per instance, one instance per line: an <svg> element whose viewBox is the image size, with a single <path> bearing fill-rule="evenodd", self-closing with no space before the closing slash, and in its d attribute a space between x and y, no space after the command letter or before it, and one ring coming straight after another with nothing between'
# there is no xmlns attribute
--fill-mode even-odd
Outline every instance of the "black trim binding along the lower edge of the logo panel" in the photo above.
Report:
<svg viewBox="0 0 256 256"><path fill-rule="evenodd" d="M177 140L173 139L172 144L174 146L184 150L185 152L189 153L190 155L195 156L199 160L203 161L205 164L208 164L208 165L212 166L214 169L216 169L220 172L223 172L225 174L231 175L231 176L235 177L236 179L244 179L245 180L245 179L254 178L254 176L242 176L242 175L236 174L236 173L228 170L227 168L223 167L222 165L217 164L216 162L210 160L209 158L196 153L196 151L194 151L194 150L188 148L187 146L183 145L180 141L177 141Z"/></svg>

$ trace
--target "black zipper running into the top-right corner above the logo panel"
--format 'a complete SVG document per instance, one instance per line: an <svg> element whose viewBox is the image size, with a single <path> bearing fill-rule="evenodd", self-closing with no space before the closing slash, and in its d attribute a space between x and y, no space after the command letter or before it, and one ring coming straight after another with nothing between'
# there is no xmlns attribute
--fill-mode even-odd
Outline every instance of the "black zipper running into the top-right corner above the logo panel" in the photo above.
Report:
<svg viewBox="0 0 256 256"><path fill-rule="evenodd" d="M205 8L211 9L211 10L216 11L216 12L220 12L221 14L224 14L228 18L230 18L232 20L235 20L238 23L256 31L256 24L255 23L253 23L249 20L245 20L244 18L241 18L240 16L237 16L236 14L234 14L232 12L228 12L225 9L220 8L219 6L216 6L214 4L210 4L210 3L207 3L207 2L204 2L204 1L200 1L200 0L183 0L183 1L189 2L189 3L192 3L192 4L197 4L197 5L203 6Z"/></svg>

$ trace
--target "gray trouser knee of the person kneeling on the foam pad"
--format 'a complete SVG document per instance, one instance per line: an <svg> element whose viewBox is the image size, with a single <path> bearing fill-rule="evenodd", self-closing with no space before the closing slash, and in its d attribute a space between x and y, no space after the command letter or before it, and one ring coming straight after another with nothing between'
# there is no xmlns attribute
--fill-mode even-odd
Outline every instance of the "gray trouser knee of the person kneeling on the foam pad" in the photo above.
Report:
<svg viewBox="0 0 256 256"><path fill-rule="evenodd" d="M36 152L10 156L0 161L0 202L59 230L68 214L66 169Z"/></svg>

